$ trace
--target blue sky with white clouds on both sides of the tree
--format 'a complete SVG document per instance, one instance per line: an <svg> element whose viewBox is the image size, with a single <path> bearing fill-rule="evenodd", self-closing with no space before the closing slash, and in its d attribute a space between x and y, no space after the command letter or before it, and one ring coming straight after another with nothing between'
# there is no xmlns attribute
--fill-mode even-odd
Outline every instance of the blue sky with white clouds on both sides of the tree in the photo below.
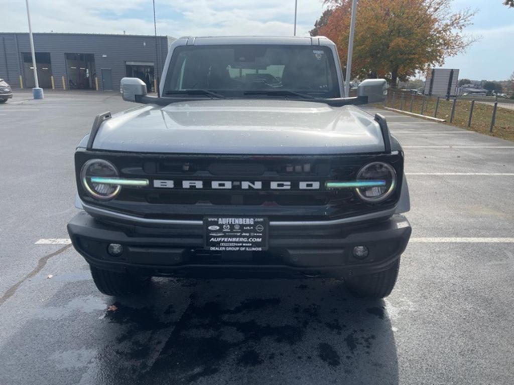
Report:
<svg viewBox="0 0 514 385"><path fill-rule="evenodd" d="M0 0L2 31L26 31L24 2ZM151 0L30 0L35 32L153 33ZM157 33L181 35L288 35L294 0L156 0ZM466 33L479 42L445 67L460 78L505 80L514 71L514 9L502 0L454 0L454 9L477 9ZM321 0L298 0L298 34L307 35L323 11Z"/></svg>

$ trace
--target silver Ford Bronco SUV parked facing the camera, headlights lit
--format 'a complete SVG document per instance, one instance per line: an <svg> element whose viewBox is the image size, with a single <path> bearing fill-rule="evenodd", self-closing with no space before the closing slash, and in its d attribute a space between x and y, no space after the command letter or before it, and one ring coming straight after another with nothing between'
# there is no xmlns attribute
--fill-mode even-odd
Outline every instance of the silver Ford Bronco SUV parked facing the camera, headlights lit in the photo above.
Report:
<svg viewBox="0 0 514 385"><path fill-rule="evenodd" d="M343 279L389 295L411 227L403 151L378 103L386 81L344 94L325 37L182 37L160 97L99 114L75 153L68 224L98 289L153 276Z"/></svg>

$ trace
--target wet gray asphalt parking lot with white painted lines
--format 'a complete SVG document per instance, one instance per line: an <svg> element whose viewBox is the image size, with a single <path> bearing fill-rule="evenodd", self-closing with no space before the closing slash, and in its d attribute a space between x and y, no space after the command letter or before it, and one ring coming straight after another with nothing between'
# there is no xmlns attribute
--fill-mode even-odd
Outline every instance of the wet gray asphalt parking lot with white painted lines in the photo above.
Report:
<svg viewBox="0 0 514 385"><path fill-rule="evenodd" d="M514 143L380 110L413 227L386 300L335 280L169 279L127 300L65 239L75 146L134 105L29 97L0 106L0 384L514 383Z"/></svg>

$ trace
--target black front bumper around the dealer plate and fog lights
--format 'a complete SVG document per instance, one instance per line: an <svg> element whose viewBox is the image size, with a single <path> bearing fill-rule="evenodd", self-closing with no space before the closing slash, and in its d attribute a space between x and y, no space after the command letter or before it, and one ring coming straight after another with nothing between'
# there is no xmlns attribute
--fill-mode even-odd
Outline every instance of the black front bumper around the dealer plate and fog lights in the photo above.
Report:
<svg viewBox="0 0 514 385"><path fill-rule="evenodd" d="M303 278L371 274L387 269L405 250L411 226L401 215L359 225L280 226L269 229L267 252L211 253L203 226L143 227L101 222L81 211L68 224L75 249L98 268L173 277ZM109 243L123 253L107 253ZM369 248L363 260L356 245Z"/></svg>

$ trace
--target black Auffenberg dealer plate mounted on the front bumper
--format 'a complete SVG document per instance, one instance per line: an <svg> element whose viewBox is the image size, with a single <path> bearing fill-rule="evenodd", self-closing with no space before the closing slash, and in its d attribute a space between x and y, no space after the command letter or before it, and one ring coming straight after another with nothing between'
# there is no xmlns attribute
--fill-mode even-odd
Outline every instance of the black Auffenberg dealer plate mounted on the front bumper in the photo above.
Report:
<svg viewBox="0 0 514 385"><path fill-rule="evenodd" d="M204 218L205 247L219 252L260 252L268 248L268 220L255 217Z"/></svg>

